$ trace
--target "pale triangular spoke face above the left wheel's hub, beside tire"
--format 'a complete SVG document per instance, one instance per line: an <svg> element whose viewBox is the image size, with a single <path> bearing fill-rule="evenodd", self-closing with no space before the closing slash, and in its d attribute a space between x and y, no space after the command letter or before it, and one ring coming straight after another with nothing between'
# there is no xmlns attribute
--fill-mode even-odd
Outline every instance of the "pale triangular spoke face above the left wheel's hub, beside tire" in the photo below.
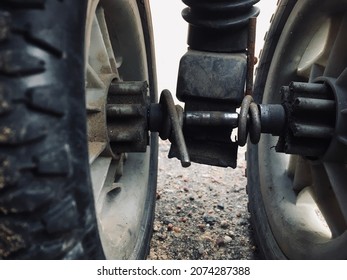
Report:
<svg viewBox="0 0 347 280"><path fill-rule="evenodd" d="M96 16L94 17L91 30L89 64L95 70L97 75L112 73L112 67L104 41L104 36Z"/></svg>

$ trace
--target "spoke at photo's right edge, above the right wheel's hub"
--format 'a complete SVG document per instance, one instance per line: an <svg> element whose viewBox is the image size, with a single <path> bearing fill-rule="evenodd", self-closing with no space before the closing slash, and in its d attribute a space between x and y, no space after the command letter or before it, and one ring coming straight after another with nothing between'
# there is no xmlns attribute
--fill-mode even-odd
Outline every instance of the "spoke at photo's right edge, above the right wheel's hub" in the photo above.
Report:
<svg viewBox="0 0 347 280"><path fill-rule="evenodd" d="M344 15L332 46L324 76L337 78L347 65L346 52L347 14Z"/></svg>

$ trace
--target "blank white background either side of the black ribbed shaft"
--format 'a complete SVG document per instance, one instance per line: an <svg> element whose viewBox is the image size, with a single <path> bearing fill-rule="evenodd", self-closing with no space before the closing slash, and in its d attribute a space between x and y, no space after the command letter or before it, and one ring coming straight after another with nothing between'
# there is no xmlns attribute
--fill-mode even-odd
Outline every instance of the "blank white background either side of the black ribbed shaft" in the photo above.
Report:
<svg viewBox="0 0 347 280"><path fill-rule="evenodd" d="M213 0L212 0L213 1ZM277 0L261 0L257 24L256 55L263 45L271 15ZM186 7L181 0L150 0L156 48L158 89L176 92L177 72L180 58L187 50L188 23L181 17Z"/></svg>

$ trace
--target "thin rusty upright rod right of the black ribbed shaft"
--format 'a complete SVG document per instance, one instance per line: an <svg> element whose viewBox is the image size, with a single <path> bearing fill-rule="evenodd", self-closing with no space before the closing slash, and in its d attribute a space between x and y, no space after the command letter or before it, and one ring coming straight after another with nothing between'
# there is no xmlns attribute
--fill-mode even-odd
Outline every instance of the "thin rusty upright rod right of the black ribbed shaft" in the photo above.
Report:
<svg viewBox="0 0 347 280"><path fill-rule="evenodd" d="M248 27L246 95L252 95L253 92L256 28L257 18L252 17L249 19Z"/></svg>

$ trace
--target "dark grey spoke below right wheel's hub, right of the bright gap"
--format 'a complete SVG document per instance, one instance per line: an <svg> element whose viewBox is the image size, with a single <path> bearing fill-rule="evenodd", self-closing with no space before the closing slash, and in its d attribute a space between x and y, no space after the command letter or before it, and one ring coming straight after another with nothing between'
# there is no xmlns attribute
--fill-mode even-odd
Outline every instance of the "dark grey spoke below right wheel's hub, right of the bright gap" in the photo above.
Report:
<svg viewBox="0 0 347 280"><path fill-rule="evenodd" d="M332 169L332 166L320 163L311 165L314 199L333 237L341 235L347 228L347 196L343 194L343 196L338 197L342 193L341 185L344 185L346 181L341 182L334 178L334 176L340 178L340 171L340 167ZM346 171L344 172L346 174ZM343 200L345 201L344 205L341 205Z"/></svg>

